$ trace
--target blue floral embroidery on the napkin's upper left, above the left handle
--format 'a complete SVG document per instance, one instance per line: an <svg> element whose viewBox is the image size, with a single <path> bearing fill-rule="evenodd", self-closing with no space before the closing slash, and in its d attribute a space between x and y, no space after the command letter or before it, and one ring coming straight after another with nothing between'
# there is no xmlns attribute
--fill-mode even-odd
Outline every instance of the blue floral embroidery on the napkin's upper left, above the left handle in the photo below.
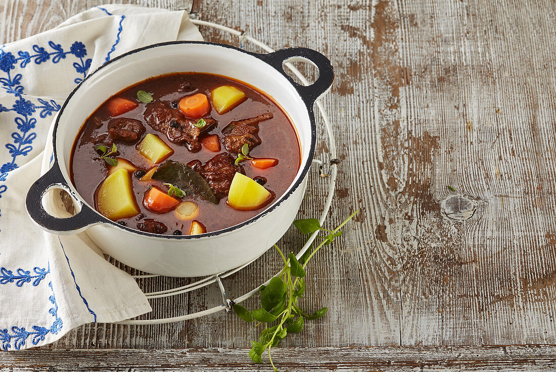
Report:
<svg viewBox="0 0 556 372"><path fill-rule="evenodd" d="M7 76L0 77L0 88L3 88L7 93L16 97L16 101L11 108L0 105L0 113L13 111L19 115L14 119L19 133L13 132L11 136L13 138L13 143L8 143L6 145L6 148L8 148L12 156L12 160L0 166L0 182L6 181L8 172L18 167L16 162L18 156L27 156L29 151L33 150L32 142L37 137L37 134L31 131L37 123L36 118L32 117L33 113L40 110L39 116L41 118L46 118L47 116L51 116L53 112L59 111L61 108L54 100L47 101L37 98L38 103L33 103L24 98L24 87L20 83L23 75L17 73L12 76L11 70L16 68L16 65L20 68L25 68L31 61L36 65L40 65L48 60L53 63L58 63L61 59L66 58L67 54L72 54L76 58L79 58L80 62L74 62L73 67L78 73L82 74L83 77L87 76L87 71L91 67L92 58L83 59L83 57L87 55L87 49L85 48L85 44L80 41L73 42L68 52L65 52L60 44L56 44L52 41L48 42L48 46L52 49L52 52L35 44L32 47L33 53L18 51L18 57L14 56L11 52L5 52L3 46L0 48L0 71L6 73ZM81 80L82 78L78 77L74 81L79 83ZM8 190L6 185L0 185L0 198L6 190Z"/></svg>

